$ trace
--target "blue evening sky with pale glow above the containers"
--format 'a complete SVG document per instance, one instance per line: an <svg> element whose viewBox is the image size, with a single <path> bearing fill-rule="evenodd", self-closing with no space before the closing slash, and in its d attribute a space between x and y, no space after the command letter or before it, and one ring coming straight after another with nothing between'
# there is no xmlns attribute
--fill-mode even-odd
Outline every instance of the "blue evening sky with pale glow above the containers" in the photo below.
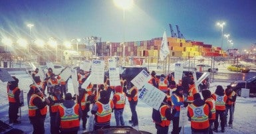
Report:
<svg viewBox="0 0 256 134"><path fill-rule="evenodd" d="M123 10L112 0L0 0L0 38L27 38L27 23L33 23L31 36L43 40L98 36L102 41L122 42L123 33L125 41L151 40L165 30L171 36L171 23L175 33L178 25L187 40L221 46L216 23L225 21L223 33L231 34L234 48L256 43L255 0L134 0L124 20Z"/></svg>

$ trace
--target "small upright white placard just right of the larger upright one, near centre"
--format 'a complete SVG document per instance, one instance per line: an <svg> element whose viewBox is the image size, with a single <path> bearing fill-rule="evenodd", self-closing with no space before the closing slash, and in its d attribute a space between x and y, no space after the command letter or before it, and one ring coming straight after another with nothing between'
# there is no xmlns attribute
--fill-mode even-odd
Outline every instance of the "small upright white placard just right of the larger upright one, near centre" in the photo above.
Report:
<svg viewBox="0 0 256 134"><path fill-rule="evenodd" d="M110 86L121 86L119 68L109 68Z"/></svg>

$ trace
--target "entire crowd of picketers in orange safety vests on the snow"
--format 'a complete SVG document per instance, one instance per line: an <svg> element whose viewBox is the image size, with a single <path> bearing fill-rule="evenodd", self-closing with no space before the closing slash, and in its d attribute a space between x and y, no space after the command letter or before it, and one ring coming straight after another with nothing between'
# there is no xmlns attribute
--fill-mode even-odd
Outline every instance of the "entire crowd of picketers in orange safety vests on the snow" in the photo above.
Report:
<svg viewBox="0 0 256 134"><path fill-rule="evenodd" d="M33 84L29 86L30 90L27 93L29 119L33 125L33 133L45 133L44 123L48 111L51 117L51 133L78 133L80 120L82 120L82 129L86 130L89 111L94 115L94 130L110 127L112 113L116 119L116 126L125 126L123 112L126 98L132 113L128 122L132 127L138 125L136 112L138 88L131 83L130 89L128 89L127 82L122 77L120 77L120 86L110 86L110 80L105 76L104 84L89 84L84 89L82 84L90 72L80 70L77 74L79 94L72 96L67 92L67 80L53 74L51 68L45 74L46 78L43 82L40 76L37 76L38 71L37 68L33 72ZM171 74L168 76L162 74L160 78L156 77L154 71L150 74L151 78L148 83L166 94L160 108L153 109L152 112L157 133L168 133L171 124L173 125L172 133L180 133L182 127L179 125L179 121L182 107L188 107L188 119L191 121L192 133L217 132L218 119L220 119L221 132L225 132L228 113L228 124L232 127L237 95L230 86L227 86L225 91L222 86L217 86L213 94L205 87L201 92L203 96L201 98L191 74L186 74L178 84ZM23 103L19 101L21 92L18 86L19 80L15 76L13 79L13 82L7 84L9 123L19 124L21 121L17 120L17 114ZM46 90L47 93L45 93ZM46 97L46 94L49 96ZM111 94L113 94L112 98Z"/></svg>

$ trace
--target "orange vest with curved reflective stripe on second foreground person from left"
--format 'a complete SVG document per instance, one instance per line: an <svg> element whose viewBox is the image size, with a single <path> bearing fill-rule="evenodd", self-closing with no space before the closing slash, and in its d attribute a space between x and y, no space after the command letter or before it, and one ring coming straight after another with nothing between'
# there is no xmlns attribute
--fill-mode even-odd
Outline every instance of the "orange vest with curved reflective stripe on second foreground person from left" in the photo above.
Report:
<svg viewBox="0 0 256 134"><path fill-rule="evenodd" d="M31 99L29 101L29 117L34 117L36 114L37 109L39 109L34 103L33 100L35 98L40 98L43 101L43 98L41 98L39 95L37 94L33 94L31 96ZM40 113L41 115L46 115L47 114L47 106L45 105L45 107L43 107L43 109L40 109Z"/></svg>

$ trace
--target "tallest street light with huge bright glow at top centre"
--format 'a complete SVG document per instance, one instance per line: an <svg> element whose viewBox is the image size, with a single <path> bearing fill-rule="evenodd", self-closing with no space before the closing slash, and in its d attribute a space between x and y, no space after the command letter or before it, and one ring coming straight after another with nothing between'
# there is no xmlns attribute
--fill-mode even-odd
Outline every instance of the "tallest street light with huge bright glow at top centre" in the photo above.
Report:
<svg viewBox="0 0 256 134"><path fill-rule="evenodd" d="M123 32L125 33L125 9L128 9L130 7L132 7L133 5L133 0L113 0L114 1L114 4L117 6L117 7L121 7L123 9ZM124 55L125 55L125 34L123 33L123 42L122 42L122 58L123 58L123 64L125 63L124 62Z"/></svg>

